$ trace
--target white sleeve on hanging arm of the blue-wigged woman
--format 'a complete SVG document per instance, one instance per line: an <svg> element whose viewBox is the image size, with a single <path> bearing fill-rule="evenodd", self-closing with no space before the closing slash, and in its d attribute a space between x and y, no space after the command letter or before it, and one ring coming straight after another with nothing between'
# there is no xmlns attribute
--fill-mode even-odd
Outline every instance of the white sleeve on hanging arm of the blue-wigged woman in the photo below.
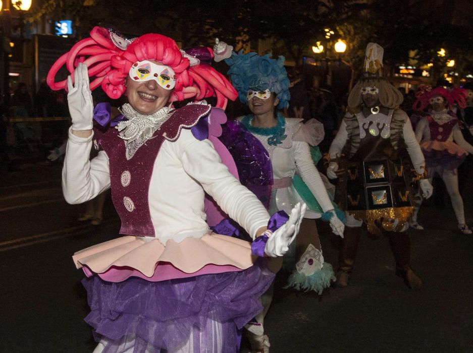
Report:
<svg viewBox="0 0 473 353"><path fill-rule="evenodd" d="M320 177L317 167L313 164L310 156L310 148L306 142L293 141L294 157L296 166L299 170L300 176L304 183L309 188L313 196L316 197L317 202L322 207L324 212L333 210L332 201L330 201L329 194L325 188L325 184Z"/></svg>

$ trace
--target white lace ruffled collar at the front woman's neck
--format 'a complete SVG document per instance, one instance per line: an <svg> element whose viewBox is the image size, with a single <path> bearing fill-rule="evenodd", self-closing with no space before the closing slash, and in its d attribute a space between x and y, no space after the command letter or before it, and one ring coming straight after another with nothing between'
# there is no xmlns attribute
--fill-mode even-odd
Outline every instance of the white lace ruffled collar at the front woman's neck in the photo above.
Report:
<svg viewBox="0 0 473 353"><path fill-rule="evenodd" d="M154 132L171 117L170 107L163 107L151 115L143 115L126 103L120 108L120 112L128 119L118 123L115 127L120 133L119 137L125 140L126 158L131 159L138 148L151 139Z"/></svg>

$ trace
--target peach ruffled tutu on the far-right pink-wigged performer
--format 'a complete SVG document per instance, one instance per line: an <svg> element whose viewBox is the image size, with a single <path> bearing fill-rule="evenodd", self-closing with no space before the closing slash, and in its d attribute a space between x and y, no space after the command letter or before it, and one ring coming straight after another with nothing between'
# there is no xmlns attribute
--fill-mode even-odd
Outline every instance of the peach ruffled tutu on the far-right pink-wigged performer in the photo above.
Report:
<svg viewBox="0 0 473 353"><path fill-rule="evenodd" d="M428 169L441 166L443 169L455 170L468 155L465 149L452 141L422 141L421 149Z"/></svg>

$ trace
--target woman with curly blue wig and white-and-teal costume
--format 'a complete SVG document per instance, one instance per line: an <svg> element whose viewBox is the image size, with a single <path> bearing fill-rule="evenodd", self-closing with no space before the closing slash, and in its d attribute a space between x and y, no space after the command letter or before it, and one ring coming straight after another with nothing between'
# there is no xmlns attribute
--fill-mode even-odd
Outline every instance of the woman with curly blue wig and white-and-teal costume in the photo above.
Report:
<svg viewBox="0 0 473 353"><path fill-rule="evenodd" d="M311 157L310 145L316 146L323 139L323 126L315 120L302 124L302 119L286 118L278 111L288 107L290 97L283 56L275 60L270 54L258 56L255 52L243 54L240 51L238 54L233 52L226 63L230 66L228 74L240 101L251 110L251 114L238 117L238 121L259 140L271 161L272 173L268 178L273 180L268 205L270 214L289 211L301 202L307 204L295 242L295 254L292 254L295 269L289 277L289 285L321 293L335 278L332 266L324 262L314 219L322 217L329 221L333 232L340 236L344 229ZM248 148L248 153L254 148L254 145ZM281 263L274 265L273 270L277 272L280 266ZM264 323L272 289L261 298L265 310L256 316L256 325ZM251 331L250 327L250 332L254 333L249 337L252 348L267 351L269 342L263 330Z"/></svg>

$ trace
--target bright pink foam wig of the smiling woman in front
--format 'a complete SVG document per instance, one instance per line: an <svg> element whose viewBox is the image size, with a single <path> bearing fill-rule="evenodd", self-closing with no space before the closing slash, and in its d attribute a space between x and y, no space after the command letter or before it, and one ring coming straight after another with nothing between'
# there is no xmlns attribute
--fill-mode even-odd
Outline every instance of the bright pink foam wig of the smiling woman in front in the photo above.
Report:
<svg viewBox="0 0 473 353"><path fill-rule="evenodd" d="M203 49L213 56L211 49ZM66 80L55 82L56 74L64 65L72 74L82 62L87 65L89 77L93 78L90 89L101 86L110 98L118 99L125 94L125 79L131 66L144 60L154 60L174 70L176 85L170 102L216 96L217 107L225 109L228 99L235 100L238 96L225 76L192 53L179 50L171 38L149 33L136 39L125 39L102 27L94 27L90 38L79 41L62 55L52 65L46 81L53 90L66 89ZM74 79L74 75L71 76Z"/></svg>

